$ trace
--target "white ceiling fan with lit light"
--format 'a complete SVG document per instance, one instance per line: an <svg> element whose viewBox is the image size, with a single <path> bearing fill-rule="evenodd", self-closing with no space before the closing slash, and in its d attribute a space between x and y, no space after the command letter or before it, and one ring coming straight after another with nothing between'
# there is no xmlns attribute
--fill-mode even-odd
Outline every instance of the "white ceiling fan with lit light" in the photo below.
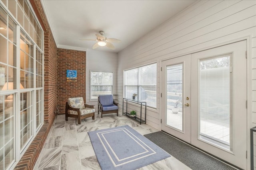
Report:
<svg viewBox="0 0 256 170"><path fill-rule="evenodd" d="M105 35L104 31L100 31L99 33L100 34L95 34L97 39L80 39L80 40L98 41L97 43L95 43L92 46L92 49L96 49L100 46L102 46L102 47L106 46L110 49L115 49L115 46L112 43L121 43L121 40L119 40L119 39L104 37L104 35Z"/></svg>

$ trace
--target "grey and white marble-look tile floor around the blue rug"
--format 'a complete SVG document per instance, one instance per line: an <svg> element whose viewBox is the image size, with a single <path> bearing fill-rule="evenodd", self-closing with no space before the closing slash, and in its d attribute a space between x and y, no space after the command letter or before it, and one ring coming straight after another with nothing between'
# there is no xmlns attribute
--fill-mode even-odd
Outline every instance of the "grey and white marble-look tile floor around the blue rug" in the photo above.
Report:
<svg viewBox="0 0 256 170"><path fill-rule="evenodd" d="M40 152L34 170L100 170L88 131L129 125L140 134L158 131L153 127L138 123L125 115L107 114L103 118L95 114L83 119L79 125L77 119L58 115ZM188 166L173 156L160 160L138 170L190 170Z"/></svg>

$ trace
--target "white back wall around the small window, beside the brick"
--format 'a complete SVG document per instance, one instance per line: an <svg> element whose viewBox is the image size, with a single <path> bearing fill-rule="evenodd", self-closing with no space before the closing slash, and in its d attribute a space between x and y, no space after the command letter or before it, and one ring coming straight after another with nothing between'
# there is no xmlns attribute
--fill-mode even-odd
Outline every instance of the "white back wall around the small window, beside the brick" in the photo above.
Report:
<svg viewBox="0 0 256 170"><path fill-rule="evenodd" d="M117 53L86 50L86 103L94 105L95 113L98 114L98 101L90 101L90 70L110 71L114 74L113 94L116 94L117 81Z"/></svg>

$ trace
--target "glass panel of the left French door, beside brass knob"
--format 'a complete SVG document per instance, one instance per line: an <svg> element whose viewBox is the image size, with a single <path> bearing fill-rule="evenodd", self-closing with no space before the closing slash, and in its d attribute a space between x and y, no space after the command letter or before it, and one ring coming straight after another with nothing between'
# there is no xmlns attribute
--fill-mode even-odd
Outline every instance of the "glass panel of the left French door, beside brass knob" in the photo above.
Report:
<svg viewBox="0 0 256 170"><path fill-rule="evenodd" d="M166 67L166 125L183 130L183 64Z"/></svg>

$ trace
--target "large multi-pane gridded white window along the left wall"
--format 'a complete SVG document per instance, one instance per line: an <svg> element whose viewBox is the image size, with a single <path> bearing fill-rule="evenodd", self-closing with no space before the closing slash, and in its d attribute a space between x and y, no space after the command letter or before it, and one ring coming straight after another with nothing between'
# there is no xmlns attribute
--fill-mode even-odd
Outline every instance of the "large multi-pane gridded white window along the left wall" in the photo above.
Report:
<svg viewBox="0 0 256 170"><path fill-rule="evenodd" d="M43 125L43 31L28 1L0 3L0 169L14 169ZM12 15L11 15L12 14Z"/></svg>

